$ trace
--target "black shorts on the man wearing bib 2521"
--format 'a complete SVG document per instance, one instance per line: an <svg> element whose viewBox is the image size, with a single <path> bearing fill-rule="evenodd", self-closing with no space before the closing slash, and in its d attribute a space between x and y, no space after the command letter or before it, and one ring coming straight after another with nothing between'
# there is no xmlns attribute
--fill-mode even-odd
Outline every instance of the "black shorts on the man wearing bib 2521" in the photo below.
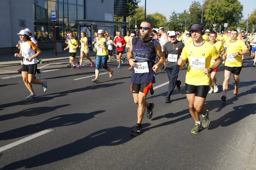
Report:
<svg viewBox="0 0 256 170"><path fill-rule="evenodd" d="M196 93L197 97L206 98L208 92L208 85L195 86L186 83L186 94Z"/></svg>

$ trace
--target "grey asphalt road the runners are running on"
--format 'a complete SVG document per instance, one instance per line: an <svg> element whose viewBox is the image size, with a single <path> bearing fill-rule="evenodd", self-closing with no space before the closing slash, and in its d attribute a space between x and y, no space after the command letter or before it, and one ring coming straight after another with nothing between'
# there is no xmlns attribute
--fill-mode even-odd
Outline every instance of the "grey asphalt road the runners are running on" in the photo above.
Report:
<svg viewBox="0 0 256 170"><path fill-rule="evenodd" d="M127 62L114 75L100 69L100 83L91 80L95 67L88 60L80 70L66 67L68 60L44 62L40 80L48 90L33 85L37 98L27 100L19 66L0 69L1 169L248 169L256 139L255 69L245 56L235 96L230 80L222 102L223 65L216 74L218 93L208 94L210 125L198 134L185 95L186 67L180 69L181 90L164 102L167 73L158 72L154 115L143 120L143 133L131 136L137 105L130 92ZM104 74L105 73L105 74ZM38 76L36 76L38 78Z"/></svg>

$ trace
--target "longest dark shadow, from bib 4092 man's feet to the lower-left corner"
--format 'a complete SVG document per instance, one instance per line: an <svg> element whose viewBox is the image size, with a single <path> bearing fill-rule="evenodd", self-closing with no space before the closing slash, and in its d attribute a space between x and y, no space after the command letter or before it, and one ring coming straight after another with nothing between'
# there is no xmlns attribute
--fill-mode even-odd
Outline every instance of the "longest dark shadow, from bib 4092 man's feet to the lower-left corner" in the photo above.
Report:
<svg viewBox="0 0 256 170"><path fill-rule="evenodd" d="M143 123L143 126L147 127L149 123ZM97 147L124 144L133 139L131 135L128 135L132 128L116 126L102 129L70 144L10 163L4 166L3 169L34 168L64 160Z"/></svg>

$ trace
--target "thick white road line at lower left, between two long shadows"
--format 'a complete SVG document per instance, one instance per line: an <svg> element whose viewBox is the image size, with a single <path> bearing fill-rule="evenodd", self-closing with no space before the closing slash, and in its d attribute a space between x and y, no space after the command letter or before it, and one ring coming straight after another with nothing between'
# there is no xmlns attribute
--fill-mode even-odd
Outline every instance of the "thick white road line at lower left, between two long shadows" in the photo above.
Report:
<svg viewBox="0 0 256 170"><path fill-rule="evenodd" d="M8 145L5 145L5 146L3 146L3 147L0 147L0 152L2 152L2 151L4 151L4 150L7 150L7 149L10 149L11 147L17 146L17 145L19 145L19 144L22 144L22 143L24 143L24 142L26 142L26 141L29 141L29 140L31 140L31 139L37 138L38 136L44 135L44 134L46 134L46 133L48 133L48 132L51 132L51 131L53 131L53 129L46 129L46 130L43 130L43 131L41 131L41 132L38 132L38 133L36 133L36 134L34 134L34 135L28 136L28 137L26 137L26 138L24 138L24 139L20 139L20 140L18 140L18 141L16 141L16 142L13 142L13 143L11 143L11 144L8 144Z"/></svg>

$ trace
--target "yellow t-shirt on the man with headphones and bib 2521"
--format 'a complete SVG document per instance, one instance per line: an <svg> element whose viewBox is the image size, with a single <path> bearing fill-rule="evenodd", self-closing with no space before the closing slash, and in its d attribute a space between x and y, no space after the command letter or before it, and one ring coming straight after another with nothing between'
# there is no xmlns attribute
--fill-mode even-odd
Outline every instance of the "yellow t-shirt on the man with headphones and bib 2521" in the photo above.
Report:
<svg viewBox="0 0 256 170"><path fill-rule="evenodd" d="M185 82L195 86L209 86L209 75L204 74L203 70L210 68L211 58L217 59L218 56L216 48L208 42L204 42L200 46L195 46L194 43L185 45L181 53L181 58L189 61ZM196 67L200 67L200 69Z"/></svg>

